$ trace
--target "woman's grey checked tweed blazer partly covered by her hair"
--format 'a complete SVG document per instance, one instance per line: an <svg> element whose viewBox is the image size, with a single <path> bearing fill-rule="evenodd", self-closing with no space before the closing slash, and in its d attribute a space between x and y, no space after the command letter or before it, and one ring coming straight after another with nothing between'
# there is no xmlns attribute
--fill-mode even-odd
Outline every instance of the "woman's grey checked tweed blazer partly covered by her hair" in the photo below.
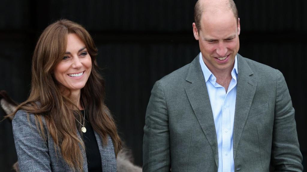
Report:
<svg viewBox="0 0 307 172"><path fill-rule="evenodd" d="M49 135L44 118L43 123L45 136L48 137L47 141L39 134L33 114L29 114L29 119L23 110L18 110L15 114L12 125L20 171L73 171L64 161L60 148L55 151L54 141ZM77 133L81 139L79 131ZM116 158L111 137L108 136L108 144L104 146L99 134L95 132L95 136L101 156L102 171L116 172ZM83 157L83 169L84 172L87 172L86 153L81 145L80 149Z"/></svg>

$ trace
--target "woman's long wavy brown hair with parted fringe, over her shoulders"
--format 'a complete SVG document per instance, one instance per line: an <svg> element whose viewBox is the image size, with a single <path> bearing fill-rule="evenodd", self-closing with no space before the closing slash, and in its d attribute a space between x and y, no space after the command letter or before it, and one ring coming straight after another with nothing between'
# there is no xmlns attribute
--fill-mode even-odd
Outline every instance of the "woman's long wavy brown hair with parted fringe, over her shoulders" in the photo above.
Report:
<svg viewBox="0 0 307 172"><path fill-rule="evenodd" d="M80 24L63 19L50 24L43 31L33 53L31 92L29 98L21 103L17 110L23 109L35 114L37 127L42 137L46 139L41 119L43 116L56 147L60 147L64 160L73 169L82 171L83 162L79 145L84 148L84 143L77 135L76 128L80 131L80 126L76 125L75 119L82 117L80 113L76 116L72 107L77 109L77 106L63 94L60 84L52 74L57 63L64 57L69 33L79 36L91 56L91 74L81 89L81 98L87 109L89 121L102 137L104 145L107 144L108 135L111 136L117 155L121 148L121 140L115 122L104 104L105 81L98 71L97 48L90 34Z"/></svg>

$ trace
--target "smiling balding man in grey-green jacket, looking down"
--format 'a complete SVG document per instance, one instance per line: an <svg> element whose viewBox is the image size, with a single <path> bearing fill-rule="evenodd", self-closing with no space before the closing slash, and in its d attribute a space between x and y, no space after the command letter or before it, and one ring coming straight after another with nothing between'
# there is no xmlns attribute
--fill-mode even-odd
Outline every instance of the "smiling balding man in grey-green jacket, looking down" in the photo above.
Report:
<svg viewBox="0 0 307 172"><path fill-rule="evenodd" d="M200 54L153 86L143 171L302 171L294 109L282 73L238 53L232 0L199 0Z"/></svg>

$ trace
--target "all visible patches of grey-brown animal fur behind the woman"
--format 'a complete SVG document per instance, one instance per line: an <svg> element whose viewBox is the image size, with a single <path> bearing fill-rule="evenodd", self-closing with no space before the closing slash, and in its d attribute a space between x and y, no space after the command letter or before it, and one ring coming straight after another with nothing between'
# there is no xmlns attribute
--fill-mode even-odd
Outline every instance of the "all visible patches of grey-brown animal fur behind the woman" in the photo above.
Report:
<svg viewBox="0 0 307 172"><path fill-rule="evenodd" d="M12 114L16 110L17 103L15 103L10 97L6 94L6 92L0 92L0 105L6 114ZM14 117L10 117L10 121L13 120ZM117 171L118 172L142 172L142 168L134 165L133 156L130 150L123 148L119 151L117 158ZM13 165L13 169L16 172L19 172L19 165L16 162Z"/></svg>

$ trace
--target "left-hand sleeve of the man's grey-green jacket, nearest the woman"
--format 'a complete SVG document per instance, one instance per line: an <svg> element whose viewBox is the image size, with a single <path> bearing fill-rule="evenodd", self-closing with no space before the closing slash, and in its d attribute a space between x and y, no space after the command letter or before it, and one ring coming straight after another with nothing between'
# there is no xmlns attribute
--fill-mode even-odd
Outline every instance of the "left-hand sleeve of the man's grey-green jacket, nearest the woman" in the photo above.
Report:
<svg viewBox="0 0 307 172"><path fill-rule="evenodd" d="M143 171L169 172L171 168L169 123L165 92L160 81L151 91L143 137Z"/></svg>

